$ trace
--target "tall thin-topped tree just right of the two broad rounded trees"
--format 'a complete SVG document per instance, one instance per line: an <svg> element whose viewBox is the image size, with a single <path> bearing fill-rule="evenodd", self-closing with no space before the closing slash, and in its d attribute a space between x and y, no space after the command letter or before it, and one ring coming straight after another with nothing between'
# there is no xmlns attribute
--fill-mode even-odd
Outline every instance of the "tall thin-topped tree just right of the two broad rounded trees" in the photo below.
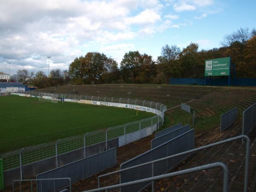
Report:
<svg viewBox="0 0 256 192"><path fill-rule="evenodd" d="M180 48L176 45L165 45L162 47L161 56L157 58L157 63L160 66L160 70L165 77L165 83L169 83L171 76L177 77L180 74L180 64L178 59L180 57Z"/></svg>

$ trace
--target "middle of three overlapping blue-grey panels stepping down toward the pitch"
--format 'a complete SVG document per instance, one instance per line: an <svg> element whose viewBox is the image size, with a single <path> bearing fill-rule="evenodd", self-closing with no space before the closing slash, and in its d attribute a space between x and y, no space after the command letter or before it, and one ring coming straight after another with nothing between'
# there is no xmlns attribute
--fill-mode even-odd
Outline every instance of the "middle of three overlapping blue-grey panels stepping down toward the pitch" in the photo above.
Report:
<svg viewBox="0 0 256 192"><path fill-rule="evenodd" d="M189 129L190 125L185 125L184 127L176 129L175 131L171 131L167 134L164 134L160 137L151 140L151 149L159 145L162 145L163 143L166 143L167 141L172 140L173 138L178 137L183 133L186 133L187 131L189 131Z"/></svg>

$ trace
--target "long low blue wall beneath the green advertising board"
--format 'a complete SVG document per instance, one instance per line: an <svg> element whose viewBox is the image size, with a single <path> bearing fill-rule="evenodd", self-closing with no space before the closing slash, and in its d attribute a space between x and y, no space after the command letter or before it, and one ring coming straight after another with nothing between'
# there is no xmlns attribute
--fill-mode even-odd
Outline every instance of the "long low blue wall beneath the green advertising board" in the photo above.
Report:
<svg viewBox="0 0 256 192"><path fill-rule="evenodd" d="M204 78L171 78L169 84L204 85ZM207 78L206 85L227 86L228 78ZM231 79L232 86L256 86L256 79Z"/></svg>

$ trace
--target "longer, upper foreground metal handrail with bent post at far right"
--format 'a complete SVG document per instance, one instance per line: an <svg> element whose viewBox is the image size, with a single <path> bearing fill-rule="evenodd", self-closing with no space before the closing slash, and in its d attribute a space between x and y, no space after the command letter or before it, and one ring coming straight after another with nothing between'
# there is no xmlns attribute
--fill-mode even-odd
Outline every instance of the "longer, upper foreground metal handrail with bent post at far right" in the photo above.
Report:
<svg viewBox="0 0 256 192"><path fill-rule="evenodd" d="M113 175L113 174L116 174L116 173L124 172L124 171L127 171L129 169L134 169L134 168L137 168L137 167L141 167L141 166L157 163L157 162L160 162L160 161L163 161L163 160L168 160L170 158L178 157L178 156L181 156L181 155L184 155L184 154L189 154L189 153L192 153L192 152L195 152L195 151L201 151L201 150L203 150L205 148L213 147L215 145L221 145L221 144L224 144L224 143L228 143L228 142L231 142L231 141L234 141L234 140L243 139L243 138L246 139L246 154L245 154L245 168L244 168L244 192L247 192L248 169L249 169L249 155L250 155L250 139L246 135L239 135L237 137L232 137L232 138L227 139L227 140L222 140L222 141L218 141L216 143L211 143L209 145L204 145L202 147L194 148L194 149L191 149L189 151L184 151L184 152L177 153L177 154L174 154L174 155L171 155L171 156L168 156L168 157L163 157L163 158L160 158L160 159L157 159L157 160L149 161L149 162L142 163L142 164L139 164L139 165L136 165L136 166L131 166L131 167L128 167L128 168L125 168L125 169L120 169L120 170L115 171L115 172L111 172L111 173L107 173L107 174L104 174L104 175L100 175L98 177L98 188L100 187L100 178L101 177L105 177L105 176L108 176L108 175Z"/></svg>

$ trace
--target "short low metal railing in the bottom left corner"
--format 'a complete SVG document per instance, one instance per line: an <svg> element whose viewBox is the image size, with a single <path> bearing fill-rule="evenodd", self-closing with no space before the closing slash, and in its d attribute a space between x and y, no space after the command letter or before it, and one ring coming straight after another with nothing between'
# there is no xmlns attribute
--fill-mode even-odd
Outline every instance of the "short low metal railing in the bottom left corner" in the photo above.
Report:
<svg viewBox="0 0 256 192"><path fill-rule="evenodd" d="M56 188L55 188L55 181L56 180L69 180L69 191L71 192L71 179L69 177L64 177L64 178L49 178L49 179L24 179L24 180L13 180L12 181L12 192L15 192L15 186L14 186L14 183L15 182L19 182L20 183L20 192L22 192L22 188L21 188L21 183L22 182L26 182L26 181L30 181L30 189L31 189L31 192L33 192L33 181L40 181L40 189L42 192L42 181L45 181L45 180L52 180L53 181L53 190L54 192L56 191ZM38 187L38 185L37 185Z"/></svg>

